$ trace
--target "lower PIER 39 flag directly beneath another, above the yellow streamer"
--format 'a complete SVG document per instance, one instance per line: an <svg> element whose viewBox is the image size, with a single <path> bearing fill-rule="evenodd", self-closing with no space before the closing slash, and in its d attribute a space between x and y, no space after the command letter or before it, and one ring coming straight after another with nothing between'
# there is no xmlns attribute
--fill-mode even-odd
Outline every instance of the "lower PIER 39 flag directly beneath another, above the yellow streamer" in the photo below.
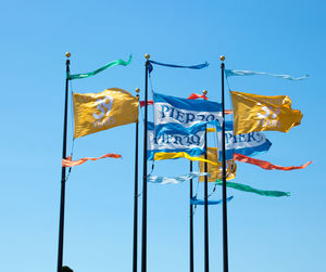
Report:
<svg viewBox="0 0 326 272"><path fill-rule="evenodd" d="M204 127L195 134L160 134L154 135L154 124L148 122L147 159L153 160L158 152L186 152L190 156L204 153Z"/></svg>

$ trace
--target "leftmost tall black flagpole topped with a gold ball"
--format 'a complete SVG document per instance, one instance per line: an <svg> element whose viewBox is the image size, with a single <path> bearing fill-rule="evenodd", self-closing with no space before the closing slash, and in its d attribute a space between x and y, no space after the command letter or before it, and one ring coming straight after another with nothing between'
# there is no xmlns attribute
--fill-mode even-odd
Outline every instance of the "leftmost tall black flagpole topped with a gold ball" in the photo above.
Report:
<svg viewBox="0 0 326 272"><path fill-rule="evenodd" d="M65 53L66 57L71 56L70 52ZM65 102L64 102L64 122L63 122L63 144L62 158L66 158L66 130L67 130L67 99L68 99L68 75L70 60L65 62L66 79L65 79ZM59 222L59 246L58 246L58 272L62 272L63 257L63 229L64 229L64 199L65 199L65 167L61 168L61 199L60 199L60 222Z"/></svg>

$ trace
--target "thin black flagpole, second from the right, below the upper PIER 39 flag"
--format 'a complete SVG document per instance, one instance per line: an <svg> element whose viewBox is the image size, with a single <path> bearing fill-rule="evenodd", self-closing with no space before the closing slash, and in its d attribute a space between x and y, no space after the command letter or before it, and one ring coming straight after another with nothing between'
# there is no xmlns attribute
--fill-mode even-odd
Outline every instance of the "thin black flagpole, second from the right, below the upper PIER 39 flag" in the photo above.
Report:
<svg viewBox="0 0 326 272"><path fill-rule="evenodd" d="M208 159L208 126L205 126L205 159ZM204 172L208 172L208 163L204 164ZM208 193L208 176L204 178L204 258L205 258L205 269L204 272L210 271L210 259L209 259L209 193Z"/></svg>

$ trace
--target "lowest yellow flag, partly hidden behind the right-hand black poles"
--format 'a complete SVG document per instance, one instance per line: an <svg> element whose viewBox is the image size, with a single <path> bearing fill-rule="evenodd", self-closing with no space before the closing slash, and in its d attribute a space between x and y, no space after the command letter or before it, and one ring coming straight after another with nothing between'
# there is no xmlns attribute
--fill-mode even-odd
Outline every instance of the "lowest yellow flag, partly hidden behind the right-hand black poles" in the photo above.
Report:
<svg viewBox="0 0 326 272"><path fill-rule="evenodd" d="M204 156L201 156L204 157ZM216 147L208 147L208 159L211 161L216 161L217 163L218 158L218 152ZM202 161L199 161L199 171L204 172L205 164ZM233 180L236 178L236 170L237 170L237 165L235 160L229 159L226 160L226 180ZM209 165L208 164L208 172L211 174L211 177L208 177L208 181L216 181L222 180L222 161L217 165ZM199 181L204 181L204 177L200 177Z"/></svg>

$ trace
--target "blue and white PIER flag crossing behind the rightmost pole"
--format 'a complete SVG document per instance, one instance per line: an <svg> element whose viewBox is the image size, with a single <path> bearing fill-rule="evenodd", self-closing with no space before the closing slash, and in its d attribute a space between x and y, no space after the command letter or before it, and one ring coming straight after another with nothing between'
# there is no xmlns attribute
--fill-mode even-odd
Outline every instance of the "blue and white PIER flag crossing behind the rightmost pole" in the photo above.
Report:
<svg viewBox="0 0 326 272"><path fill-rule="evenodd" d="M222 161L222 127L217 128L218 160ZM234 122L225 121L225 159L233 159L234 153L254 156L269 150L272 143L262 132L249 132L234 135Z"/></svg>

